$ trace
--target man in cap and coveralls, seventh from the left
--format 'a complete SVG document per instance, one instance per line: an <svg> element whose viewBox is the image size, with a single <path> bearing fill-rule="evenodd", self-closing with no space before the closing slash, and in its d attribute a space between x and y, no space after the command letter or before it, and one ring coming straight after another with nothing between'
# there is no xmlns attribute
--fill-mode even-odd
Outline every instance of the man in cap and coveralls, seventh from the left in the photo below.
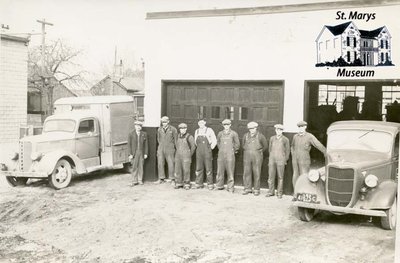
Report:
<svg viewBox="0 0 400 263"><path fill-rule="evenodd" d="M290 143L289 139L284 136L283 125L276 124L275 133L269 139L269 160L268 160L268 192L267 197L275 194L275 177L278 173L278 198L282 198L283 194L283 175L285 172L285 165L289 160L290 155Z"/></svg>

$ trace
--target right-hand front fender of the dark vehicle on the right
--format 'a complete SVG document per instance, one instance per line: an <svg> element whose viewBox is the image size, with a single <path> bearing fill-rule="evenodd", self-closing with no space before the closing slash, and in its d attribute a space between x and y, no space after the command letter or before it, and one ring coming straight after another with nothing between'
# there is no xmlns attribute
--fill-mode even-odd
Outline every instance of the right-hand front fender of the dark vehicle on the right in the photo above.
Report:
<svg viewBox="0 0 400 263"><path fill-rule="evenodd" d="M389 209L397 194L397 183L384 181L366 195L364 206L368 209Z"/></svg>

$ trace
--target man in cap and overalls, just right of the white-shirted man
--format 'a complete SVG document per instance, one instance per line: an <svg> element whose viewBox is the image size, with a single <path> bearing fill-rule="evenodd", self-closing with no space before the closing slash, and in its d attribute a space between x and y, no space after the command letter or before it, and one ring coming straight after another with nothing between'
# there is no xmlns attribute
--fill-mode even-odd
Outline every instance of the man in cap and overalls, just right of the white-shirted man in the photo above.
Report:
<svg viewBox="0 0 400 263"><path fill-rule="evenodd" d="M234 173L235 173L235 153L239 151L240 141L237 132L231 130L231 120L222 121L224 130L217 135L218 145L218 173L217 190L224 189L225 171L227 175L227 190L233 193Z"/></svg>

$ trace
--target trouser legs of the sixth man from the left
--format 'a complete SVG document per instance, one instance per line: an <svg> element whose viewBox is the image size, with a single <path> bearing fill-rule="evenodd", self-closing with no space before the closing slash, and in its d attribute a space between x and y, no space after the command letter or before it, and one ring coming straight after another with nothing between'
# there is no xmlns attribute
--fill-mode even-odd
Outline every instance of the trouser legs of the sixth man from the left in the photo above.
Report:
<svg viewBox="0 0 400 263"><path fill-rule="evenodd" d="M259 150L246 150L243 156L243 184L244 191L251 192L252 183L255 192L260 192L261 166L263 153ZM254 179L254 180L253 180Z"/></svg>

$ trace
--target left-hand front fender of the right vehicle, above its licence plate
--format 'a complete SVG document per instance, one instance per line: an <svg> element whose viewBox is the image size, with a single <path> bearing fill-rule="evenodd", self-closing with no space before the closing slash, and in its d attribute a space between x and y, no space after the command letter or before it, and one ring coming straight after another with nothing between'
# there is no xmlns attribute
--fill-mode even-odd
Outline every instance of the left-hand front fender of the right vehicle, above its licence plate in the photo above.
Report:
<svg viewBox="0 0 400 263"><path fill-rule="evenodd" d="M299 176L294 188L294 196L297 197L297 194L301 193L315 194L317 195L317 202L326 204L325 184L321 179L313 183L308 179L307 175Z"/></svg>

